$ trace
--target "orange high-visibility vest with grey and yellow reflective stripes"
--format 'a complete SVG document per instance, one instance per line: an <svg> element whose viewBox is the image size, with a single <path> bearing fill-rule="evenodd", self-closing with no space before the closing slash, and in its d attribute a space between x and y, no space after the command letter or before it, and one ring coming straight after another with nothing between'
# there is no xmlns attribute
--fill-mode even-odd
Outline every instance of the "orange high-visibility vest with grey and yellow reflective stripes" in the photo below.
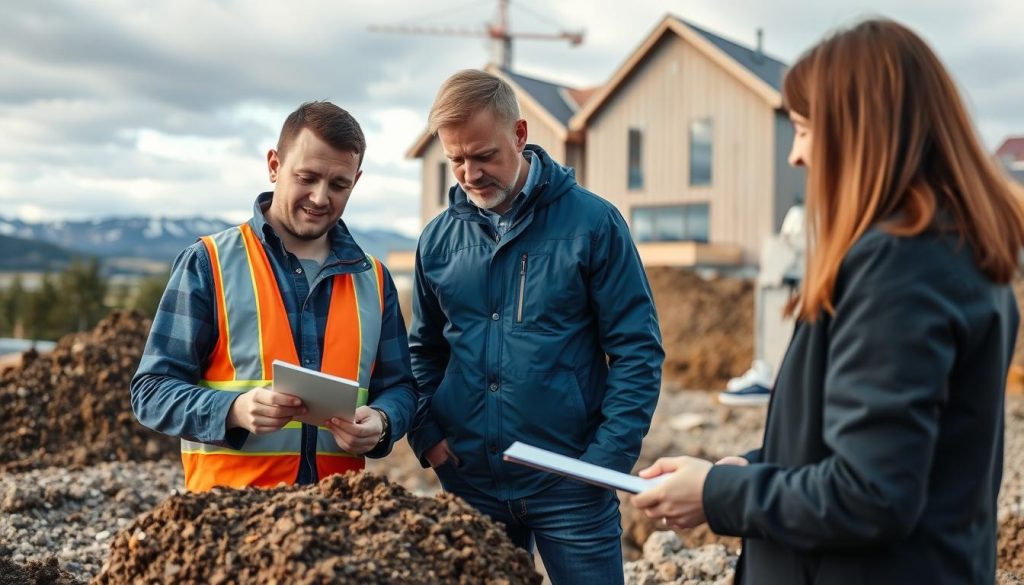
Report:
<svg viewBox="0 0 1024 585"><path fill-rule="evenodd" d="M273 269L248 223L202 238L216 289L217 342L199 385L244 392L273 382L271 364L299 365L288 312ZM358 406L367 404L384 307L383 268L372 256L361 271L336 275L331 292L321 371L356 380ZM244 488L294 484L299 472L302 423L249 434L241 450L181 441L185 488ZM325 427L317 429L319 478L362 469L362 457L344 452Z"/></svg>

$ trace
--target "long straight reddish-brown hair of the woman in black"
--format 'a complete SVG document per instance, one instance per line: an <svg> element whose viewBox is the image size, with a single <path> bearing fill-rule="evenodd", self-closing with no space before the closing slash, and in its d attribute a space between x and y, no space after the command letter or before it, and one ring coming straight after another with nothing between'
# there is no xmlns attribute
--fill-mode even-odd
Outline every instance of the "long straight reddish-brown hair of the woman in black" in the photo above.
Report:
<svg viewBox="0 0 1024 585"><path fill-rule="evenodd" d="M1008 283L1024 247L1020 193L985 154L942 62L909 29L872 19L807 51L786 75L786 109L810 122L808 256L788 309L835 311L840 263L872 225L897 236L942 209L978 266Z"/></svg>

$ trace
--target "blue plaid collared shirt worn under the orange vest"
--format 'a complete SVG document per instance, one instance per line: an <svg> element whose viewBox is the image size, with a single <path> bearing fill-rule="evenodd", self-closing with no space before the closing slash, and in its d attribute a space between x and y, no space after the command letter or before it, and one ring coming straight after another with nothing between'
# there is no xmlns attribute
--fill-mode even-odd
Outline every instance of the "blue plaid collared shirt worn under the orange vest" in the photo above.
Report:
<svg viewBox="0 0 1024 585"><path fill-rule="evenodd" d="M300 260L285 249L263 216L272 197L272 193L264 193L256 199L249 224L270 259L300 363L319 370L332 277L367 269L370 264L339 221L329 233L331 250L310 286ZM382 284L384 315L369 389L370 404L387 413L393 444L409 429L416 410L416 393L406 324L394 282L386 267ZM139 422L154 430L240 449L249 431L226 428L227 413L239 394L197 385L217 341L216 319L210 258L203 243L197 242L174 261L142 360L132 379L132 410ZM302 437L302 465L296 482L308 484L317 479L316 428L304 424ZM384 445L367 456L383 457L390 450L391 445Z"/></svg>

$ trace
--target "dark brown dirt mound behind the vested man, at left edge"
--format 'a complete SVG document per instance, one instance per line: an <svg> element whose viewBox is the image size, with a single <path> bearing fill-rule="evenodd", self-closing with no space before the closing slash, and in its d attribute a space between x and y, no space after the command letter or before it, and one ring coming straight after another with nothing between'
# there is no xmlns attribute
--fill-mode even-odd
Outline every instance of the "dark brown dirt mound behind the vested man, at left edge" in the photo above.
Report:
<svg viewBox="0 0 1024 585"><path fill-rule="evenodd" d="M148 331L141 314L115 311L0 374L0 471L176 457L177 441L131 412L129 384Z"/></svg>

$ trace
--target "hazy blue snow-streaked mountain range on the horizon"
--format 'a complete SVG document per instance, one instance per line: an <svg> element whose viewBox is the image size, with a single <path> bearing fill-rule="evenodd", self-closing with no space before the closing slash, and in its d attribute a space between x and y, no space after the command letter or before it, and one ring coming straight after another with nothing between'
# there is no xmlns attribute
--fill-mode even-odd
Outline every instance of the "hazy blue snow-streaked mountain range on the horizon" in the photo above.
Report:
<svg viewBox="0 0 1024 585"><path fill-rule="evenodd" d="M0 270L48 270L75 256L98 256L105 264L120 266L119 271L132 271L130 266L141 265L138 261L170 264L198 237L230 225L204 217L29 222L0 216ZM380 258L391 250L416 247L416 240L389 229L349 231L364 250Z"/></svg>

